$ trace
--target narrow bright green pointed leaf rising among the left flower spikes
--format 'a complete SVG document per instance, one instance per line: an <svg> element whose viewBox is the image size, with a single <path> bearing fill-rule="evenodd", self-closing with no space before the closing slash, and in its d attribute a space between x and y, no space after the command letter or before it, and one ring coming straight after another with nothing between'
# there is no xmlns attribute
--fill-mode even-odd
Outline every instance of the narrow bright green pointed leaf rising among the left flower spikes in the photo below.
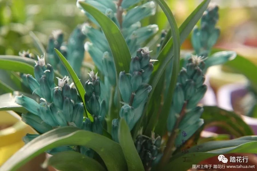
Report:
<svg viewBox="0 0 257 171"><path fill-rule="evenodd" d="M83 85L81 84L78 76L76 75L75 71L73 70L73 68L71 67L71 65L67 61L67 59L61 54L61 52L59 52L59 50L57 50L56 48L55 48L55 52L59 56L59 59L63 63L63 66L66 68L67 72L70 74L70 76L71 76L71 78L73 80L73 83L74 83L75 87L77 88L77 91L79 92L79 96L80 96L80 98L83 101L83 105L84 105L84 110L86 112L86 116L87 117L91 116L90 114L88 116L86 105L85 105L86 103L85 103L84 95L85 95L86 91L85 91ZM90 119L93 119L93 118L90 117Z"/></svg>

